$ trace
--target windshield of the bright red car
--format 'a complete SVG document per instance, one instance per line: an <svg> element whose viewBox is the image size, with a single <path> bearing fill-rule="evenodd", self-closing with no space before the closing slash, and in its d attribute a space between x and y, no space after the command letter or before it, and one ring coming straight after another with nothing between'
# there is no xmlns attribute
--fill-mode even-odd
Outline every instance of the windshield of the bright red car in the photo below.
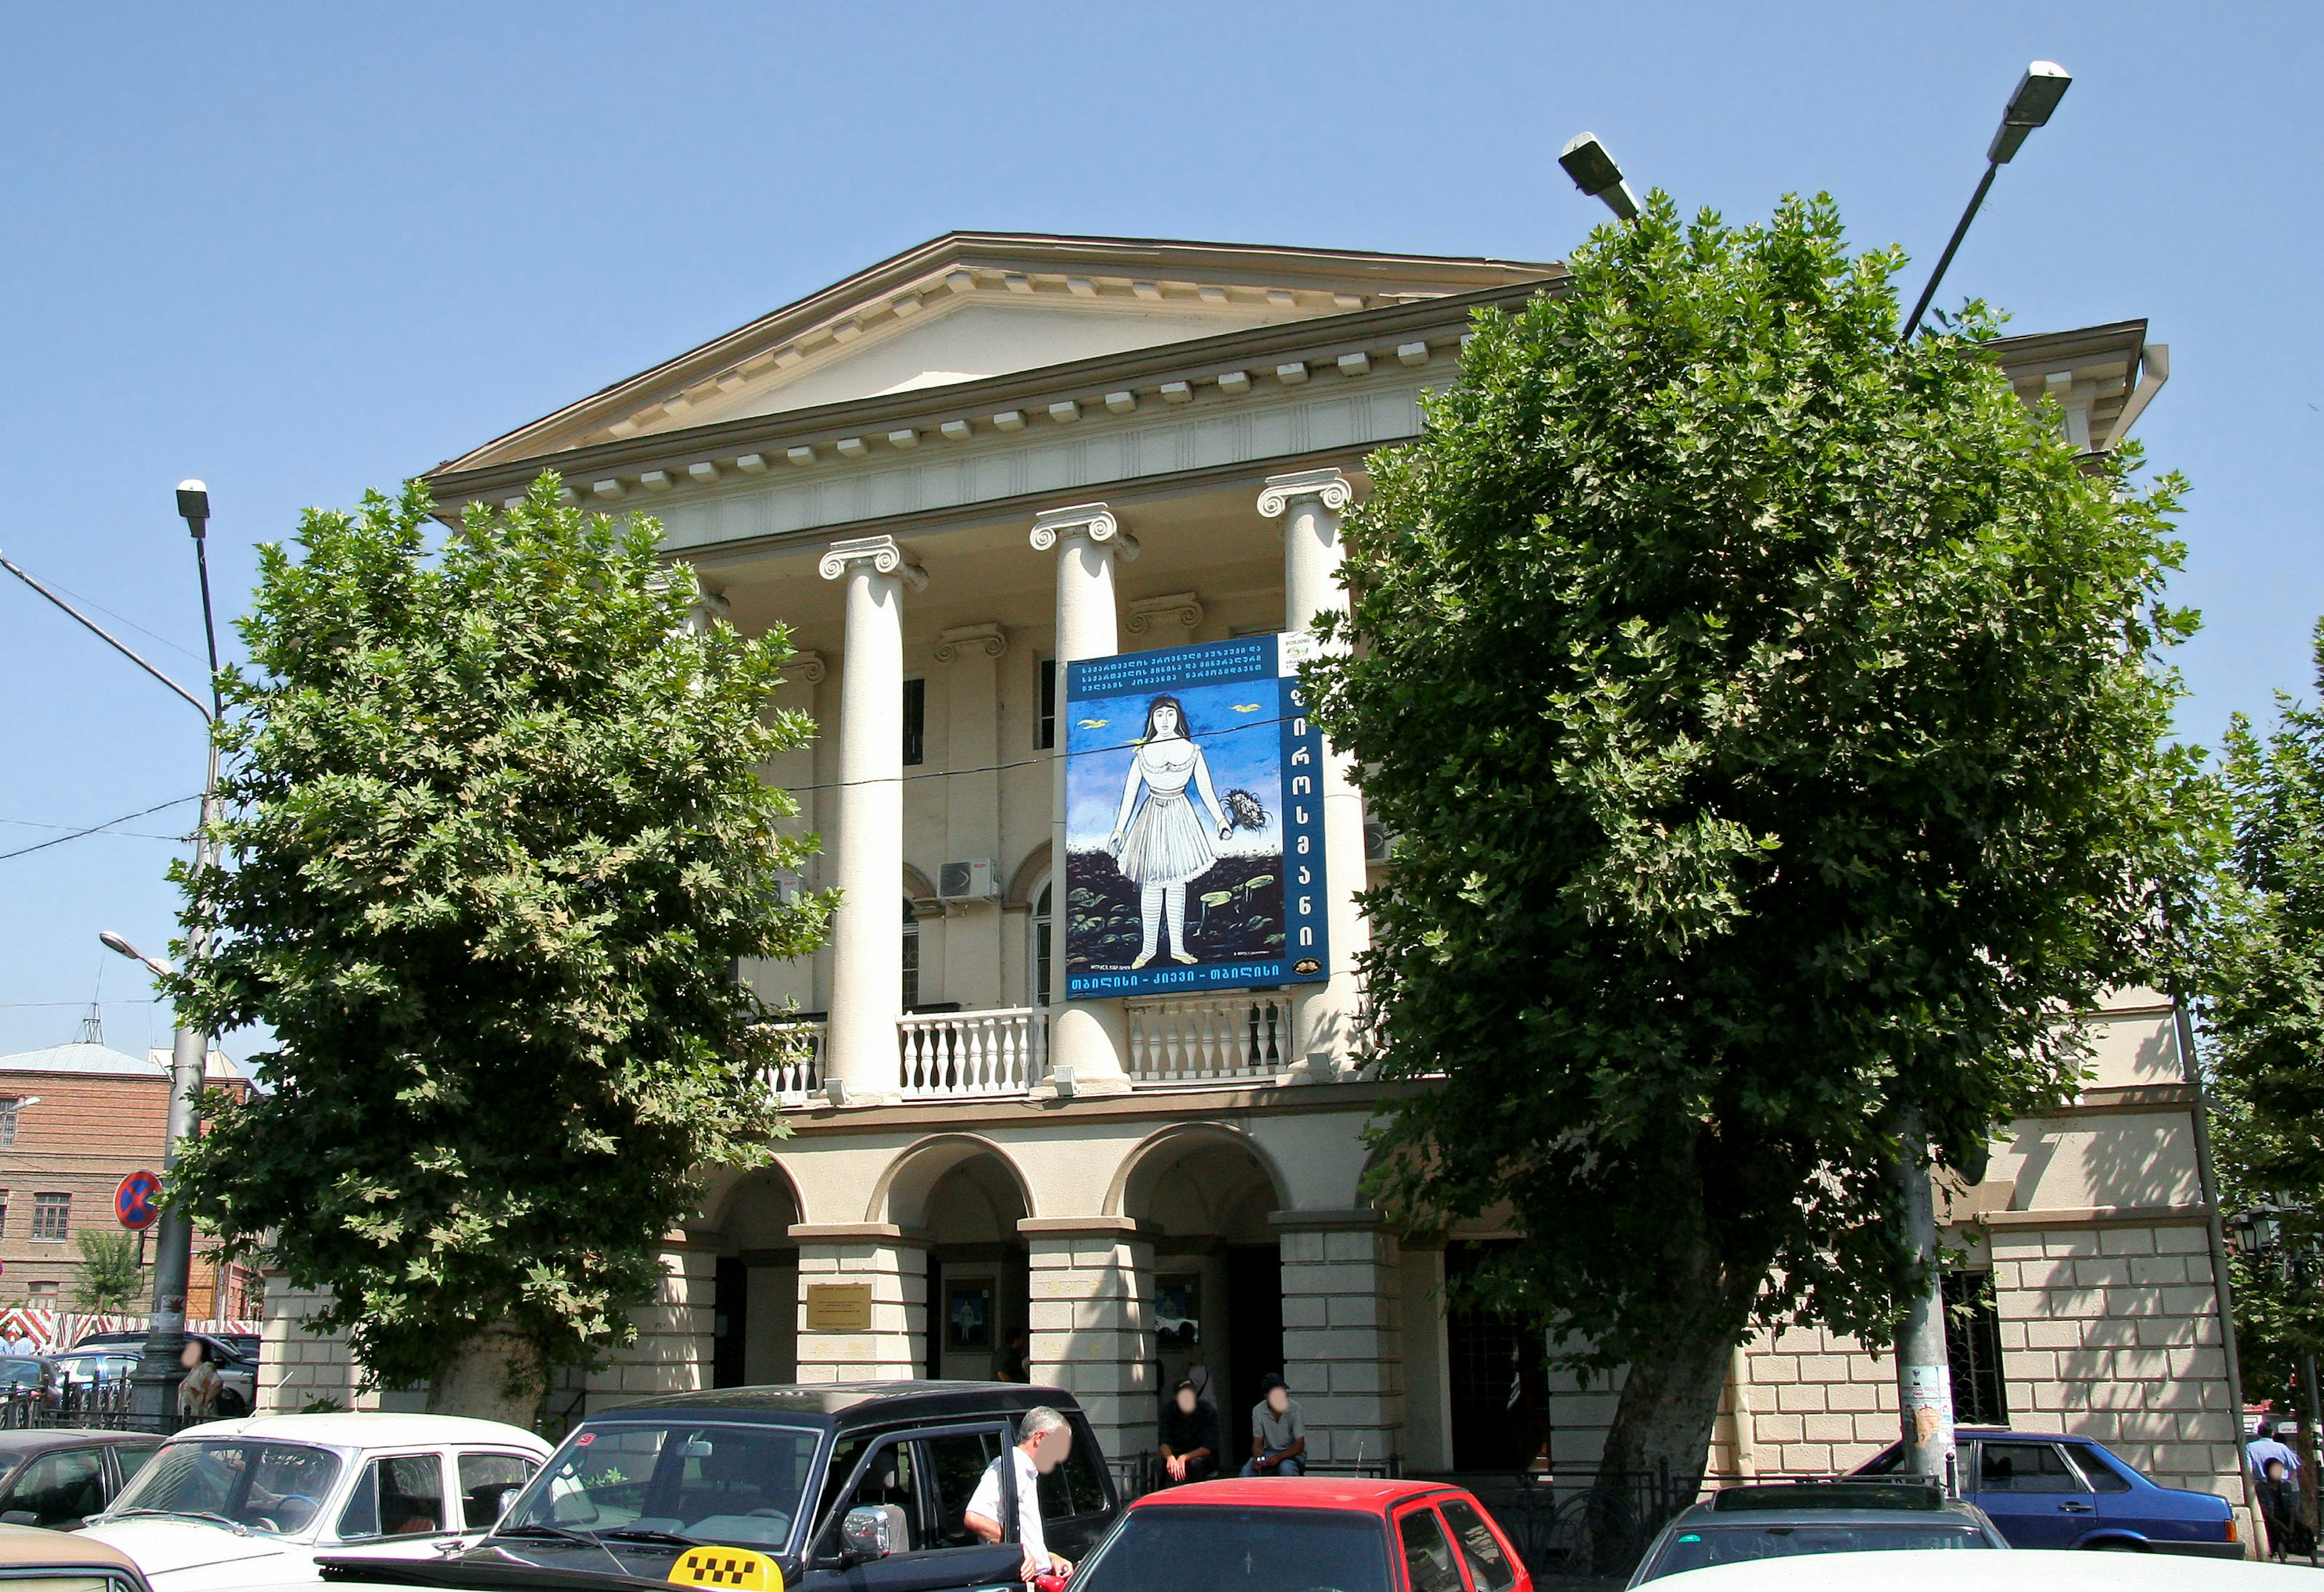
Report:
<svg viewBox="0 0 2324 1592"><path fill-rule="evenodd" d="M1387 1532L1346 1508L1132 1508L1074 1576L1074 1592L1248 1587L1387 1592Z"/></svg>

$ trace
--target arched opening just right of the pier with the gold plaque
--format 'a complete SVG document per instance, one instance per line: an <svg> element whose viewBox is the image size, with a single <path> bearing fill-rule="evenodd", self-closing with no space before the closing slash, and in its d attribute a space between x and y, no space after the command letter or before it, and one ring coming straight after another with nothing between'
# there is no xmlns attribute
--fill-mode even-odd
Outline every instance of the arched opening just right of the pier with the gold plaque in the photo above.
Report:
<svg viewBox="0 0 2324 1592"><path fill-rule="evenodd" d="M1023 1353L1030 1267L1018 1222L1032 1215L1006 1155L976 1136L925 1139L897 1162L876 1202L927 1243L927 1318L916 1369L927 1378L995 1381ZM1018 1374L1023 1376L1023 1374Z"/></svg>

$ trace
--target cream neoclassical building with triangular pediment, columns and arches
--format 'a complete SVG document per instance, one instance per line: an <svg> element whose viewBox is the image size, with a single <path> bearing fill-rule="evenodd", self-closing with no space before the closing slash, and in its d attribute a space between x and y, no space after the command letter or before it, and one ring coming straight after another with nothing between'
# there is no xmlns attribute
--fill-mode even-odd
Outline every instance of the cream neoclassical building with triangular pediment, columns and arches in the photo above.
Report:
<svg viewBox="0 0 2324 1592"><path fill-rule="evenodd" d="M830 946L746 967L795 1002L774 1167L713 1174L627 1360L576 1399L990 1376L1016 1332L1113 1450L1204 1362L1229 1425L1283 1369L1311 1446L1406 1469L1585 1466L1608 1394L1527 1334L1448 1318L1490 1229L1399 1234L1362 1192L1390 1097L1357 1046L1353 892L1385 879L1325 758L1329 976L1274 990L1064 990L1064 667L1304 632L1346 597L1364 458L1415 437L1471 311L1557 265L951 235L616 381L430 472L446 518L555 469L653 514L716 611L790 628L781 707L820 734L767 779L844 890ZM2145 323L1996 358L2113 446L2166 374ZM2101 1020L2082 1102L2017 1125L1952 1218L1964 1401L2117 1439L2236 1490L2233 1367L2196 1092L2168 1002ZM277 1406L349 1397L339 1346L270 1292ZM1894 1436L1885 1362L1783 1334L1738 1353L1715 1462L1848 1464ZM2240 1492L2238 1492L2240 1497Z"/></svg>

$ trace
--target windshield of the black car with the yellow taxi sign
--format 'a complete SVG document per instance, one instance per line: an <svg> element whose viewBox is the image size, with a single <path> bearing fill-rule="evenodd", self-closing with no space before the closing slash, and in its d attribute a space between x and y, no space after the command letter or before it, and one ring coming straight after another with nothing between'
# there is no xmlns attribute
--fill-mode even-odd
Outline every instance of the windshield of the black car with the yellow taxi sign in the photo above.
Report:
<svg viewBox="0 0 2324 1592"><path fill-rule="evenodd" d="M609 1420L583 1427L495 1527L507 1536L672 1534L781 1548L813 1480L813 1427Z"/></svg>

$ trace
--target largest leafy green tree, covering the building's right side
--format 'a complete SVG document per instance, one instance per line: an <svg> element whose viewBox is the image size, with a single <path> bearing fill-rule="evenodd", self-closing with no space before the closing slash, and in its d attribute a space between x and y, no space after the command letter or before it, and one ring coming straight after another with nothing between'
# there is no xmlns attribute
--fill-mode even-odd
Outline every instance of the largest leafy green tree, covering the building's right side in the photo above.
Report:
<svg viewBox="0 0 2324 1592"><path fill-rule="evenodd" d="M1367 895L1376 1195L1520 1239L1473 1297L1627 1364L1608 1480L1701 1476L1755 1325L1889 1341L1887 1167L2071 1095L2201 830L2168 746L2180 483L2078 460L1978 349L1894 346L1829 200L1655 198L1480 314L1350 514L1318 718Z"/></svg>

